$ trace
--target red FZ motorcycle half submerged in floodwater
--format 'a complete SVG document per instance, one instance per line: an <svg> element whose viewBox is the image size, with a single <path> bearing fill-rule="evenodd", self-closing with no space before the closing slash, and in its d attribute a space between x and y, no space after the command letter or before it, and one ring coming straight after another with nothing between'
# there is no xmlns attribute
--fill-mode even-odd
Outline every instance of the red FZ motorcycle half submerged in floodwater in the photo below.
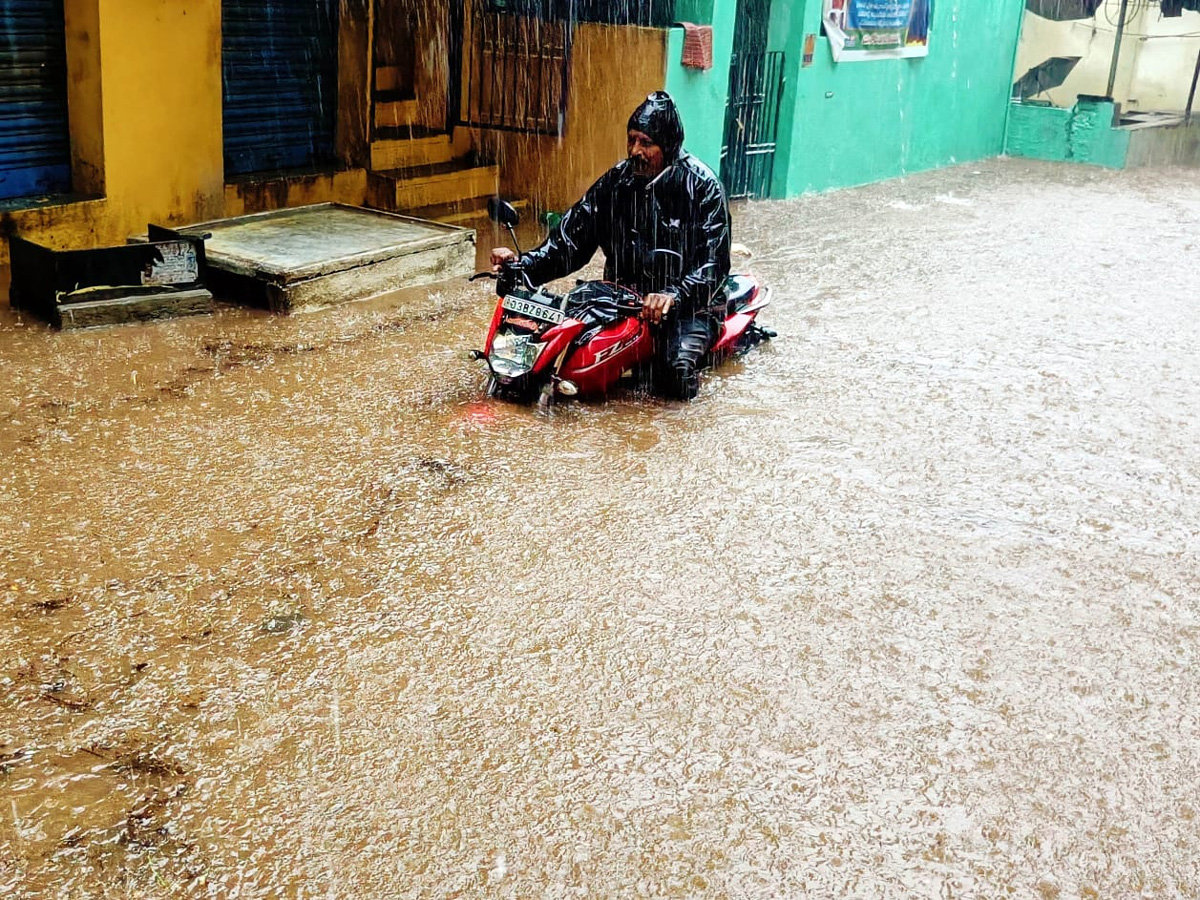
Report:
<svg viewBox="0 0 1200 900"><path fill-rule="evenodd" d="M518 214L503 200L487 204L493 221L508 228L517 245L514 226ZM678 257L673 251L660 250ZM538 398L548 406L556 397L605 397L624 378L646 372L654 358L654 335L641 318L642 298L619 284L581 281L565 294L534 287L521 268L510 263L499 275L476 272L476 278L497 280L499 302L487 331L485 349L472 356L487 362L487 392L509 400ZM737 355L775 334L755 319L770 302L770 290L750 275L731 275L726 281L728 313L706 367Z"/></svg>

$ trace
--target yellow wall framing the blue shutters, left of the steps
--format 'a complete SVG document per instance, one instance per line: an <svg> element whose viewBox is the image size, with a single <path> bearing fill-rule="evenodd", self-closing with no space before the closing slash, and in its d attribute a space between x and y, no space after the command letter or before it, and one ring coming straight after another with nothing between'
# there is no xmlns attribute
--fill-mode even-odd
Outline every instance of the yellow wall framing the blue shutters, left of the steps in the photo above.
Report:
<svg viewBox="0 0 1200 900"><path fill-rule="evenodd" d="M360 169L226 190L221 0L65 0L73 192L0 214L0 238L58 250L112 246L146 224L337 200L359 204ZM370 4L342 0L338 155L366 144ZM8 262L0 239L0 266Z"/></svg>

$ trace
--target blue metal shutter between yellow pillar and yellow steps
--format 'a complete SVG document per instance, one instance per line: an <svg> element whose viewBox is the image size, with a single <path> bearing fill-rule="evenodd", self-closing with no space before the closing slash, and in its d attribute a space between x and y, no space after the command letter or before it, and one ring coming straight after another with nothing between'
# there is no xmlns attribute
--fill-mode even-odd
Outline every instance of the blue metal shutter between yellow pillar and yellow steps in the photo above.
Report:
<svg viewBox="0 0 1200 900"><path fill-rule="evenodd" d="M334 158L337 0L222 0L226 178Z"/></svg>

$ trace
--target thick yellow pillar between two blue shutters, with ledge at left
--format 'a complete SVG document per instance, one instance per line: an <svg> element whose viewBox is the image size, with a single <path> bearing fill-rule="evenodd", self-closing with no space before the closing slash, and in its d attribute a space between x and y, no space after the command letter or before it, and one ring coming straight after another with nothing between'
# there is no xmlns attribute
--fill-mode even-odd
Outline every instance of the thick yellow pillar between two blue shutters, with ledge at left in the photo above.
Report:
<svg viewBox="0 0 1200 900"><path fill-rule="evenodd" d="M220 216L220 0L67 0L65 12L72 180L103 199L14 211L5 229L73 248Z"/></svg>

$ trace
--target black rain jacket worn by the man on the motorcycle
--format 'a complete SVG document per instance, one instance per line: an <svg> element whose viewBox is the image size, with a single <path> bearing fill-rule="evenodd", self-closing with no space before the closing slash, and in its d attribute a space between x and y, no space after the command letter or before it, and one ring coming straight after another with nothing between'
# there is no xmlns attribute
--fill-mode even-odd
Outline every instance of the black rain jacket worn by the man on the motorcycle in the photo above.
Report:
<svg viewBox="0 0 1200 900"><path fill-rule="evenodd" d="M673 295L672 314L680 318L724 316L730 274L725 190L704 163L679 148L652 181L629 160L617 163L521 263L535 284L544 284L581 269L598 247L606 280L642 294Z"/></svg>

